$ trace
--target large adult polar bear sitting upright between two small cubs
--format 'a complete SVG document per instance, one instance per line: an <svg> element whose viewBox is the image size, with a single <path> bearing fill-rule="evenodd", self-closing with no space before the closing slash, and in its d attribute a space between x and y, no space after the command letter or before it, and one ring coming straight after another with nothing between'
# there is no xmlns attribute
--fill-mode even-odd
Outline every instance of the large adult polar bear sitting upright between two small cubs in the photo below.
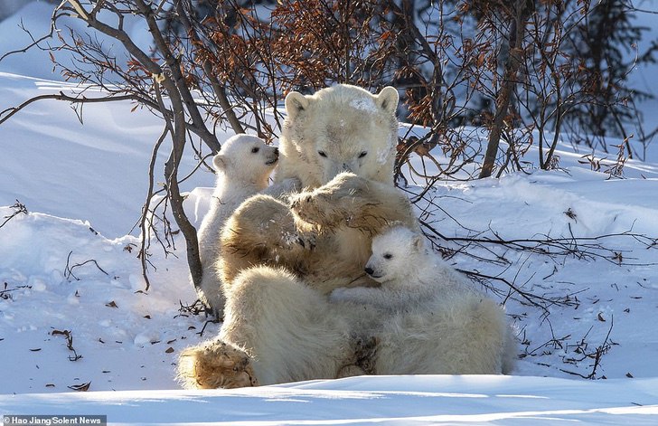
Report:
<svg viewBox="0 0 658 426"><path fill-rule="evenodd" d="M376 108L359 99L371 99ZM288 117L276 179L298 179L303 186L317 190L298 195L294 213L286 204L258 195L230 218L232 222L246 222L231 227L235 241L228 247L244 251L254 261L244 257L231 260L237 271L231 273L234 278L226 288L221 335L183 351L179 377L186 386L230 387L336 377L354 371L349 368L352 364L362 365L358 343L373 336L378 339L371 359L377 374L509 371L513 338L503 310L476 291L449 290L451 274L456 272L442 270L442 290L438 290L440 283L432 284L428 278L431 274L418 272L413 282L393 292L400 295L400 306L405 308L397 302L390 304L390 297L382 303L330 302L322 294L327 289L299 278L304 276L304 268L293 276L277 267L295 270L298 248L292 250L294 256L287 263L282 260L291 251L286 232L262 232L268 226L270 230L296 232L297 216L302 217L325 228L316 241L322 247L305 244L305 251L332 249L331 256L324 256L325 263L346 257L361 262L361 269L368 260L373 233L391 222L418 230L412 210L399 207L400 194L392 182L397 101L398 93L393 88L371 95L347 85L320 90L313 96L296 92L287 96ZM320 151L324 156L319 155ZM330 183L343 169L356 176L339 175ZM376 181L376 185L368 180ZM361 240L347 238L357 234ZM265 259L249 253L250 248L264 249ZM425 259L422 254L411 257ZM227 252L224 260L228 259ZM435 260L429 260L429 264L435 265ZM237 265L240 261L244 264ZM407 266L402 273L409 275L410 268ZM354 285L354 279L341 279L345 274L342 269L323 268L333 288ZM359 274L364 275L361 270ZM461 289L464 279L454 277L455 289ZM428 280L429 287L425 287ZM395 285L390 288L396 289ZM424 291L436 297L430 298L431 302L415 303L423 300L418 295ZM454 295L454 303L447 302L450 294Z"/></svg>

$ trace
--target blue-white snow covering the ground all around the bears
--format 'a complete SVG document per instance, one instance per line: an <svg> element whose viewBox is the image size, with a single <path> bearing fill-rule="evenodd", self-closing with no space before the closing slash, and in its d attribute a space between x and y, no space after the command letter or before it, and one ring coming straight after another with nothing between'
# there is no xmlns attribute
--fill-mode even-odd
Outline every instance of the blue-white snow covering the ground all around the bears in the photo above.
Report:
<svg viewBox="0 0 658 426"><path fill-rule="evenodd" d="M0 23L0 52L21 45L18 16L42 23L49 7L33 2ZM40 53L0 62L0 109L77 90L58 81ZM196 297L180 235L168 256L152 245L146 290L140 241L129 231L162 123L133 106L89 105L81 125L67 104L42 101L0 126L0 415L107 414L112 424L658 423L655 146L648 161L628 160L625 179L617 179L580 164L590 153L565 138L559 170L439 182L418 203L423 221L448 238L607 235L591 242L599 246L578 242L589 259L495 244L450 258L461 270L501 275L546 298L569 295L544 310L496 283L502 293L491 297L506 301L519 334L522 359L513 375L370 376L191 392L174 380L177 354L221 325L183 308ZM156 170L167 154L164 148ZM531 149L526 159L536 158ZM185 170L196 164L192 155L183 161ZM418 170L435 167L413 162ZM409 180L410 196L422 186L416 181ZM213 183L201 169L183 185L196 226ZM29 213L17 213L16 199ZM458 241L435 241L459 248ZM583 353L599 346L605 351L595 368ZM597 380L580 378L589 374ZM71 389L86 383L88 392Z"/></svg>

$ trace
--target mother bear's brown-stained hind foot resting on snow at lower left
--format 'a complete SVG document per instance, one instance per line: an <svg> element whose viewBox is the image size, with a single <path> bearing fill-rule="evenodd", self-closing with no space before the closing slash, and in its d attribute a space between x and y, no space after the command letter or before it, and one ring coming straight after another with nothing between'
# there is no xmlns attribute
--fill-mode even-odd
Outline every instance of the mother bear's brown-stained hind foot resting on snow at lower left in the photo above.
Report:
<svg viewBox="0 0 658 426"><path fill-rule="evenodd" d="M258 386L249 355L221 340L185 349L178 363L178 380L187 389Z"/></svg>

